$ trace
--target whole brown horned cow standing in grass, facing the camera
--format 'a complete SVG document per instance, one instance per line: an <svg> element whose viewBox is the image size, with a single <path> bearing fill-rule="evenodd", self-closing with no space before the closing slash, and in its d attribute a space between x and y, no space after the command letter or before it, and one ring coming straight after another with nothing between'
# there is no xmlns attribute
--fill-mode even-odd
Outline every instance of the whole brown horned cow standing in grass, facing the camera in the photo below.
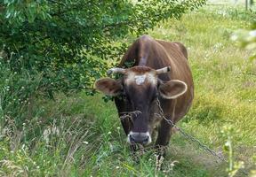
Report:
<svg viewBox="0 0 256 177"><path fill-rule="evenodd" d="M180 42L164 42L143 35L125 53L120 68L108 70L108 73L121 73L120 79L96 81L96 89L116 96L120 117L133 112L131 119L121 119L127 142L147 145L156 130L156 147L169 143L172 125L159 116L157 102L160 101L165 118L174 123L188 112L194 86L187 60L187 50ZM123 69L125 62L134 65Z"/></svg>

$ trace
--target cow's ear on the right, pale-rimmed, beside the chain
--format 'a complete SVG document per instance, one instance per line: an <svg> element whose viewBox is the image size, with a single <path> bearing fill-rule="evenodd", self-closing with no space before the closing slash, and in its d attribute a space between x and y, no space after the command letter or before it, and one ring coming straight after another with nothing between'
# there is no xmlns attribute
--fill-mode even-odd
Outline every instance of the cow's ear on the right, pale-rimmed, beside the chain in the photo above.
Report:
<svg viewBox="0 0 256 177"><path fill-rule="evenodd" d="M160 95L165 99L175 99L183 95L187 89L187 84L180 80L166 81L161 83L158 88Z"/></svg>

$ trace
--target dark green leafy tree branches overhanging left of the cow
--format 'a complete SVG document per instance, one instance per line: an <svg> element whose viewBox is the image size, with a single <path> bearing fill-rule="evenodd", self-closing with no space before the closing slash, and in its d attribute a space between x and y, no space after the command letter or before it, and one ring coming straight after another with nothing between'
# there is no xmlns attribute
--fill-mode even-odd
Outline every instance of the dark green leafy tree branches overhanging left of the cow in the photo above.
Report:
<svg viewBox="0 0 256 177"><path fill-rule="evenodd" d="M125 35L141 35L159 21L180 18L204 3L4 0L0 3L4 62L14 72L19 73L22 65L29 73L41 73L40 87L48 96L70 89L92 91L95 78L126 50L126 43L119 42Z"/></svg>

